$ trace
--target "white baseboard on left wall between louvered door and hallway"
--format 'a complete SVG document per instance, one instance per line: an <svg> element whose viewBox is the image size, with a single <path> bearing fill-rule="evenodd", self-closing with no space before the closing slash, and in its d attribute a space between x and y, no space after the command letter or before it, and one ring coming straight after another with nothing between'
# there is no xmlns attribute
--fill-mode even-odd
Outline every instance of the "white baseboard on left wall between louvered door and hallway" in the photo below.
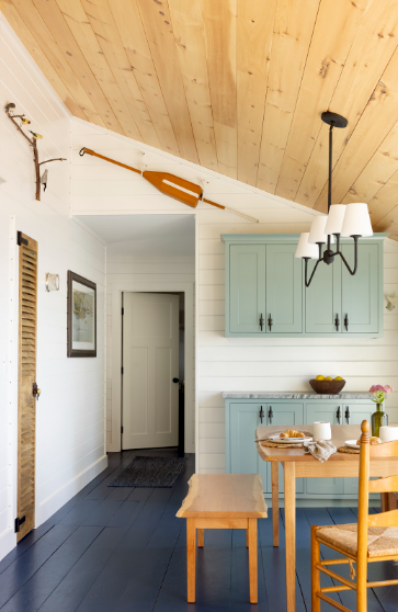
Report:
<svg viewBox="0 0 398 612"><path fill-rule="evenodd" d="M107 456L103 455L95 463L80 472L75 478L69 480L64 487L55 491L47 499L43 500L36 509L36 528L52 517L69 499L77 495L95 476L107 467Z"/></svg>

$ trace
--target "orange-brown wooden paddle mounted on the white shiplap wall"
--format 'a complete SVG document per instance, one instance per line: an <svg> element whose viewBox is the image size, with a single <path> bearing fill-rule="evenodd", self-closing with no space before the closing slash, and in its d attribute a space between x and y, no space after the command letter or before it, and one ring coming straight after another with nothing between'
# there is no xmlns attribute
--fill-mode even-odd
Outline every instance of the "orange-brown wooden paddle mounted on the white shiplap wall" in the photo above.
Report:
<svg viewBox="0 0 398 612"><path fill-rule="evenodd" d="M246 215L240 211L229 208L229 206L223 206L221 204L217 204L216 202L212 202L212 200L203 197L203 189L200 185L191 183L190 181L185 181L185 179L180 179L180 177L175 177L174 174L169 174L168 172L153 172L149 170L141 171L138 170L138 168L133 168L132 166L127 166L126 163L122 163L120 161L116 161L115 159L111 159L110 157L100 155L92 149L82 147L79 151L79 155L80 157L82 157L84 154L99 157L100 159L104 159L110 163L114 163L115 166L120 166L121 168L125 168L126 170L130 170L130 172L141 174L144 179L151 183L161 193L168 195L169 197L173 197L179 202L182 202L191 208L196 208L200 202L205 202L206 204L215 206L216 208L220 208L221 211L228 211L228 213L239 215L240 217L243 217L245 219L248 219L250 222L259 223L259 219L255 219L250 215Z"/></svg>

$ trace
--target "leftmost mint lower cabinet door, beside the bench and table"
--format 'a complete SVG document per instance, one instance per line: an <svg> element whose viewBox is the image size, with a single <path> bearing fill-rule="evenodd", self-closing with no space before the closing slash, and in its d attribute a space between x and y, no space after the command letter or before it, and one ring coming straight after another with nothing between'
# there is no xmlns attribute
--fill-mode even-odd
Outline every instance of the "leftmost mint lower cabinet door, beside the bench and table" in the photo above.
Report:
<svg viewBox="0 0 398 612"><path fill-rule="evenodd" d="M260 474L266 490L266 464L257 452L255 429L261 424L261 406L265 404L232 404L230 406L230 473ZM264 423L265 424L265 423ZM228 471L228 466L227 466Z"/></svg>

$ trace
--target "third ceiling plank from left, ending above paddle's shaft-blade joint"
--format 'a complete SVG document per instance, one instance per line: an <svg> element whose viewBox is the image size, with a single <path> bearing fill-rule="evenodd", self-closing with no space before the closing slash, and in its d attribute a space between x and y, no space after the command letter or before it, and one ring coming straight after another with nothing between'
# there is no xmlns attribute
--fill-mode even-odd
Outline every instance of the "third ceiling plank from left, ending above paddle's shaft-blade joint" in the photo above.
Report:
<svg viewBox="0 0 398 612"><path fill-rule="evenodd" d="M130 109L122 95L80 0L56 0L56 2L95 79L112 104L125 135L141 139Z"/></svg>

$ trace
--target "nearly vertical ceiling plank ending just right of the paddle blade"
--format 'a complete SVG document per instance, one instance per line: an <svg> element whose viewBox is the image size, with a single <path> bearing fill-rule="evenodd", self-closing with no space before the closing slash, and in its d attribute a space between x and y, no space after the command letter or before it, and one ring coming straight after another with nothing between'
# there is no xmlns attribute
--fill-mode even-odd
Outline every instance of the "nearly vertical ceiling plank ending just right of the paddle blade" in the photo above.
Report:
<svg viewBox="0 0 398 612"><path fill-rule="evenodd" d="M211 86L218 169L238 175L237 0L203 0L208 82Z"/></svg>

